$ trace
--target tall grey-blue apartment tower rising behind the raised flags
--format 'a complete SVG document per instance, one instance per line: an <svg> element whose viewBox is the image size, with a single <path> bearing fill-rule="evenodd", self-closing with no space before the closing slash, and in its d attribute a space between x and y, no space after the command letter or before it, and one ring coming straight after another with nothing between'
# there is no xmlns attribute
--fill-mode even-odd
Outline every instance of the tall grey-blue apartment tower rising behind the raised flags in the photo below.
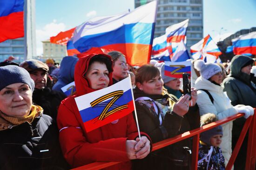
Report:
<svg viewBox="0 0 256 170"><path fill-rule="evenodd" d="M152 0L135 0L135 8ZM203 38L202 0L158 0L154 37L165 34L173 24L189 19L187 47Z"/></svg>

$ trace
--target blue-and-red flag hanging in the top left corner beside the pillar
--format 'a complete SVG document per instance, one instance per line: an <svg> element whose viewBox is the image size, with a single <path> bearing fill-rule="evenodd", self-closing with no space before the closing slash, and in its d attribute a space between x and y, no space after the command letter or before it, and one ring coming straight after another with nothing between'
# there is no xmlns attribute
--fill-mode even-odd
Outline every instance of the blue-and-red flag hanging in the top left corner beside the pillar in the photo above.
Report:
<svg viewBox="0 0 256 170"><path fill-rule="evenodd" d="M0 0L0 42L24 37L24 0Z"/></svg>

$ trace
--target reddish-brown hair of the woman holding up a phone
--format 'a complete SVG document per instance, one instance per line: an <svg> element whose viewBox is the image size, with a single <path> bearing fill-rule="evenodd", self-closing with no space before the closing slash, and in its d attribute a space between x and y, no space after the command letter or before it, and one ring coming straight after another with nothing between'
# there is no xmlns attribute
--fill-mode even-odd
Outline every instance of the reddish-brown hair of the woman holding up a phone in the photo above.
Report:
<svg viewBox="0 0 256 170"><path fill-rule="evenodd" d="M160 76L160 72L159 70L151 64L146 64L141 66L136 73L135 76L135 82L148 82L149 80L151 80L152 78L154 78L155 76Z"/></svg>

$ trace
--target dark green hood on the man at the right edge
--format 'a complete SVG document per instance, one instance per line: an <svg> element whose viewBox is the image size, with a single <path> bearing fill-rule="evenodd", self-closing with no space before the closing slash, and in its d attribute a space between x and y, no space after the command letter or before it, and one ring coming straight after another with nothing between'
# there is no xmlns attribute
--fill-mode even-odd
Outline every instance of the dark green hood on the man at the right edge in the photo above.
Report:
<svg viewBox="0 0 256 170"><path fill-rule="evenodd" d="M250 62L253 63L253 59L251 59L251 57L243 56L243 55L236 55L231 60L230 75L237 76L237 77L242 76L243 74L241 72L241 69L243 68L243 66L246 63L250 63Z"/></svg>

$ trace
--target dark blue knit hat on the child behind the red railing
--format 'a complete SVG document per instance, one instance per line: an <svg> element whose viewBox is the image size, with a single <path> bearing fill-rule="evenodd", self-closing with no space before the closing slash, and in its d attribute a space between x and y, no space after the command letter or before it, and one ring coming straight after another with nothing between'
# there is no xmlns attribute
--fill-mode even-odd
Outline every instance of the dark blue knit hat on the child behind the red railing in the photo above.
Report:
<svg viewBox="0 0 256 170"><path fill-rule="evenodd" d="M222 126L216 126L215 128L209 129L208 131L200 133L200 140L207 144L211 145L210 139L214 135L223 135Z"/></svg>

